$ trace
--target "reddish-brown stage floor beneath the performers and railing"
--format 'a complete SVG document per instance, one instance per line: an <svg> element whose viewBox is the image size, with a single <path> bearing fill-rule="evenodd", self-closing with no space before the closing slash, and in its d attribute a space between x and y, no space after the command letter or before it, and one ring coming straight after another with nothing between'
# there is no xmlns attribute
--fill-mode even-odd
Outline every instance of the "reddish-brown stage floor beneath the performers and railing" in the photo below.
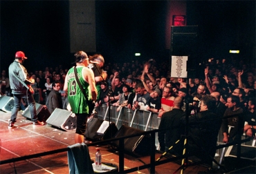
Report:
<svg viewBox="0 0 256 174"><path fill-rule="evenodd" d="M74 144L75 131L64 131L52 126L33 126L30 119L23 117L18 113L15 128L8 129L8 119L10 113L0 111L0 161L10 160L12 158L24 157L47 151L53 151L60 148L66 148ZM98 146L89 146L89 153L92 160L95 160L95 152ZM102 162L119 164L118 151L113 151L111 146L99 146L102 153ZM156 152L156 159L161 153ZM163 157L162 160L164 160ZM150 157L134 157L125 155L125 170L149 164ZM174 173L181 166L180 162L168 162L156 166L156 173ZM184 173L198 173L207 171L203 165L189 166L185 168ZM0 165L0 173L68 173L67 153L56 153L36 157L20 162L11 162ZM149 169L140 170L134 173L150 173ZM178 171L180 173L180 171Z"/></svg>

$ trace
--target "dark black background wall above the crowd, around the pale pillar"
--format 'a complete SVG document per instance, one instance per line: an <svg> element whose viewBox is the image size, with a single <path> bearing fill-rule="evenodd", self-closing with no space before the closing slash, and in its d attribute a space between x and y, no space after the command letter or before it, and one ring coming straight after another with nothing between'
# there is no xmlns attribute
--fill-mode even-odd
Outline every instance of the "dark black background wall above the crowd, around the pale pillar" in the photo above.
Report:
<svg viewBox="0 0 256 174"><path fill-rule="evenodd" d="M136 59L135 52L141 60L169 59L167 3L95 1L97 52L111 62ZM28 70L70 66L68 20L68 1L1 1L1 70L17 50L26 53ZM199 60L230 59L228 50L239 48L239 59L255 64L255 1L188 1L187 25L199 26Z"/></svg>

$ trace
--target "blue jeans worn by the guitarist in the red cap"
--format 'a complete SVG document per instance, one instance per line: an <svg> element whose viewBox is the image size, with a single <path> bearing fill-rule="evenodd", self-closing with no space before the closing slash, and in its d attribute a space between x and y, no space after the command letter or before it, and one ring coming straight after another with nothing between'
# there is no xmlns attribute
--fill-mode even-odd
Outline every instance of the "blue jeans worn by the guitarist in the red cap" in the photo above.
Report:
<svg viewBox="0 0 256 174"><path fill-rule="evenodd" d="M21 95L14 94L13 97L15 99L15 104L12 108L12 115L10 117L10 121L15 122L17 113L19 111L19 107L21 105L21 98L24 98L24 99L28 100L28 108L29 108L30 115L31 115L31 121L36 122L37 121L37 110L35 108L35 99L34 99L33 95L31 95L30 93L28 93L28 95L27 94L21 94Z"/></svg>

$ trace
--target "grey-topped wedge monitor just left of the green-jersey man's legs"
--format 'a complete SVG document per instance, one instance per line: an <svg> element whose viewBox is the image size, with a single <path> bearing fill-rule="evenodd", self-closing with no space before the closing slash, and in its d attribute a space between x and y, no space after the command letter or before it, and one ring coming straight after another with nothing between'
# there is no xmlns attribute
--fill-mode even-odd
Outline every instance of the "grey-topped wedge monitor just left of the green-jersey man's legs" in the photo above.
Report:
<svg viewBox="0 0 256 174"><path fill-rule="evenodd" d="M50 117L46 120L47 124L61 128L64 131L76 129L76 116L69 110L55 108Z"/></svg>

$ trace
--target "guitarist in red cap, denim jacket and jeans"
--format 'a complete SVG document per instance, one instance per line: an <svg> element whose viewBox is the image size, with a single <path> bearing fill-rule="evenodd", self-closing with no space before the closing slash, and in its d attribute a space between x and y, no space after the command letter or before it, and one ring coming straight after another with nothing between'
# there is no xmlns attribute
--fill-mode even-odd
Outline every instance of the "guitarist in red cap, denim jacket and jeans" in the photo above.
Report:
<svg viewBox="0 0 256 174"><path fill-rule="evenodd" d="M18 51L15 54L15 61L9 66L9 79L10 88L12 89L12 94L15 99L14 106L12 108L12 115L9 119L8 128L14 128L16 122L17 113L21 104L21 98L27 99L28 107L31 114L31 121L33 125L42 125L44 123L39 122L37 119L37 112L35 108L35 99L33 97L33 88L30 84L35 83L35 79L28 77L28 72L22 64L24 60L28 59L25 57L24 52Z"/></svg>

